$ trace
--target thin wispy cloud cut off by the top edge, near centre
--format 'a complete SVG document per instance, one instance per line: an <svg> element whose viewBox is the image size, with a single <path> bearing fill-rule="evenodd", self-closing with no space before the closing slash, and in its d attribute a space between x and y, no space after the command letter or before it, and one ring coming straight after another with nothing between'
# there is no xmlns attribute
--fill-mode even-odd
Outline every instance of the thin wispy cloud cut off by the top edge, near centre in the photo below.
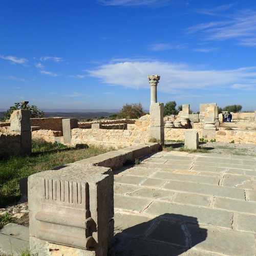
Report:
<svg viewBox="0 0 256 256"><path fill-rule="evenodd" d="M98 0L105 6L147 6L168 4L171 0Z"/></svg>

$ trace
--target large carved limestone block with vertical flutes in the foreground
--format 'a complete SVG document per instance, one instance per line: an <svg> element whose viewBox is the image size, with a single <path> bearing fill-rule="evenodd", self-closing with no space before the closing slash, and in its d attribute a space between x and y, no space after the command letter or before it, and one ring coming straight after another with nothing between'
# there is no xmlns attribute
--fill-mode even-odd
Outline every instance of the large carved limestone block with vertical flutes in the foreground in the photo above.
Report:
<svg viewBox="0 0 256 256"><path fill-rule="evenodd" d="M114 232L113 184L110 168L92 165L70 164L31 175L30 252L48 255L44 248L52 243L68 248L69 255L83 255L76 254L79 248L106 256Z"/></svg>

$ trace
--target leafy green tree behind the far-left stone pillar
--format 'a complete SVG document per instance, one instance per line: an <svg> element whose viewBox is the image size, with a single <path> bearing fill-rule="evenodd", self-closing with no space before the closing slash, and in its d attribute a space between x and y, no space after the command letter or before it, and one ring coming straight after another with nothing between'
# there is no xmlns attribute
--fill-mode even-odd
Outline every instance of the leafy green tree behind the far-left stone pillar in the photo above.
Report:
<svg viewBox="0 0 256 256"><path fill-rule="evenodd" d="M35 105L28 105L27 102L16 102L14 106L10 106L9 110L4 113L4 120L10 119L11 114L15 110L29 110L30 111L30 118L41 118L45 117L45 112L41 111Z"/></svg>

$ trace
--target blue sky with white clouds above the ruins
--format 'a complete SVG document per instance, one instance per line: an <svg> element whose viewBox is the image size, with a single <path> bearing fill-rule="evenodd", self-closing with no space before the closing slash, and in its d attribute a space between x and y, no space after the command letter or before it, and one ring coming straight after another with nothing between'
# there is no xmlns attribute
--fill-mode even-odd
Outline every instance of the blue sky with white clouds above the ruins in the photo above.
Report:
<svg viewBox="0 0 256 256"><path fill-rule="evenodd" d="M0 109L119 109L158 100L256 110L254 0L2 0Z"/></svg>

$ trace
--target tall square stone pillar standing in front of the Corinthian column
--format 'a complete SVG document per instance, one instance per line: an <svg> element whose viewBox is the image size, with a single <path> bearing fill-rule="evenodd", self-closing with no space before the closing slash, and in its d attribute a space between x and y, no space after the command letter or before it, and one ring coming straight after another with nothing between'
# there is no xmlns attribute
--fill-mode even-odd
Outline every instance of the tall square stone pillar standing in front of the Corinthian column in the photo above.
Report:
<svg viewBox="0 0 256 256"><path fill-rule="evenodd" d="M163 103L151 103L150 105L150 140L158 140L164 144L164 123L163 123Z"/></svg>

